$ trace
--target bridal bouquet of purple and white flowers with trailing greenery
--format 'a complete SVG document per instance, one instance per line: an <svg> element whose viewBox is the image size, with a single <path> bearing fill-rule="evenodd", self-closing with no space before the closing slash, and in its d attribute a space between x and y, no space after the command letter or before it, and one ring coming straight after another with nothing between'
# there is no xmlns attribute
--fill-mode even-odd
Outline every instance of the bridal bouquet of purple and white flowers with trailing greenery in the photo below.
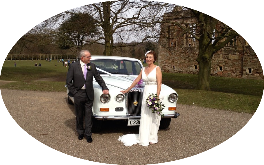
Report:
<svg viewBox="0 0 264 165"><path fill-rule="evenodd" d="M162 113L162 110L164 109L163 107L164 104L161 104L159 102L157 94L150 94L147 97L146 103L148 104L149 109L152 111L152 113L157 113L160 117L164 117L164 114Z"/></svg>

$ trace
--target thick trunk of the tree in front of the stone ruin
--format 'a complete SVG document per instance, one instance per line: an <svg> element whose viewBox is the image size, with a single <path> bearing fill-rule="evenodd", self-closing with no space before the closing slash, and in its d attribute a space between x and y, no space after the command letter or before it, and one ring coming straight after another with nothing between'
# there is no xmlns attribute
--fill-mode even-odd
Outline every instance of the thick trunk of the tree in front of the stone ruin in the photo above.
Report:
<svg viewBox="0 0 264 165"><path fill-rule="evenodd" d="M199 52L197 62L199 64L197 86L195 89L211 91L211 59L212 56L206 52Z"/></svg>

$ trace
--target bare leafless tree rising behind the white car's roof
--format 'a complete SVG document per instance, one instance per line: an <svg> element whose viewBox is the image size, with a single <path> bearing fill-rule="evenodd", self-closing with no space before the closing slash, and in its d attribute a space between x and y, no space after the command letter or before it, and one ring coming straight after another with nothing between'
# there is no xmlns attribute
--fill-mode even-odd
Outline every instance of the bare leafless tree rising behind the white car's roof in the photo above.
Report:
<svg viewBox="0 0 264 165"><path fill-rule="evenodd" d="M171 10L168 10L168 7L168 3L144 0L92 3L57 14L40 23L33 31L46 31L51 37L58 37L59 33L56 30L58 24L72 15L85 12L89 15L89 19L95 22L100 33L90 38L83 38L82 46L93 43L104 45L103 54L111 56L117 47L134 46L159 36L157 22L161 20L164 12ZM156 34L153 35L153 32Z"/></svg>

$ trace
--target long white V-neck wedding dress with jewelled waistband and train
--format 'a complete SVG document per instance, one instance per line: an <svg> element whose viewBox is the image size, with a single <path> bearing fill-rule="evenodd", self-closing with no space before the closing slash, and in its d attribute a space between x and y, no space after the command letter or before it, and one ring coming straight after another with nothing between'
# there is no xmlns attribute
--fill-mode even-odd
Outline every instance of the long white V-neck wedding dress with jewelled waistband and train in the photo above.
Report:
<svg viewBox="0 0 264 165"><path fill-rule="evenodd" d="M125 146L132 146L133 144L139 144L142 146L148 146L150 142L158 142L158 131L160 119L157 113L152 113L146 104L147 96L150 94L157 93L157 78L156 78L155 67L148 75L145 73L145 67L142 70L142 79L145 82L142 106L141 106L141 118L139 125L139 134L127 134L119 136L119 141L123 142ZM164 97L159 96L160 102L163 101Z"/></svg>

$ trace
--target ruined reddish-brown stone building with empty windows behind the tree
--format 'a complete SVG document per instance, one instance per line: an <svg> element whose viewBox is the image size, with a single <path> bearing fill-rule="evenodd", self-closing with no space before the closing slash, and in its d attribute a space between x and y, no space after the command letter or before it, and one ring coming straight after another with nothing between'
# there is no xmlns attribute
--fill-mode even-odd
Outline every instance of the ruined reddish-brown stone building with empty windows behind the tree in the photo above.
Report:
<svg viewBox="0 0 264 165"><path fill-rule="evenodd" d="M169 21L182 22L186 27L196 21L190 10L181 8L175 8L163 17ZM161 29L164 33L161 33L159 39L158 60L162 71L198 74L198 41L190 34L184 33L177 25L163 23ZM242 36L236 37L213 55L211 76L264 80L260 60Z"/></svg>

